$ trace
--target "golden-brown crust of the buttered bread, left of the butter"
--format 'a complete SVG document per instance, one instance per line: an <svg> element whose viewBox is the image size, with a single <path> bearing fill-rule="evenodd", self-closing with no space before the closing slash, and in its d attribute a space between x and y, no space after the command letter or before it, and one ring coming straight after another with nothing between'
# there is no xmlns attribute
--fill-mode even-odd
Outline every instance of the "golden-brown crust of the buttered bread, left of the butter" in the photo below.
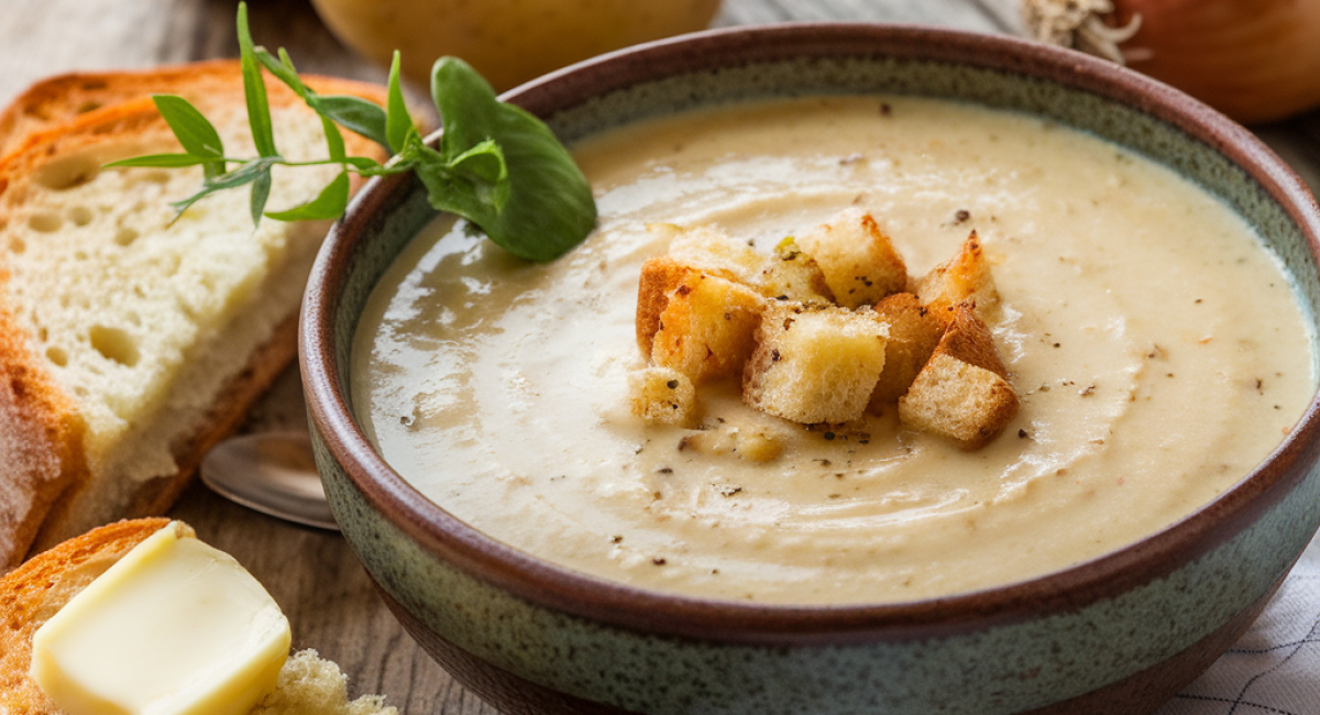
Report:
<svg viewBox="0 0 1320 715"><path fill-rule="evenodd" d="M143 518L94 529L0 579L0 712L61 715L28 675L33 633L120 557L169 522Z"/></svg>

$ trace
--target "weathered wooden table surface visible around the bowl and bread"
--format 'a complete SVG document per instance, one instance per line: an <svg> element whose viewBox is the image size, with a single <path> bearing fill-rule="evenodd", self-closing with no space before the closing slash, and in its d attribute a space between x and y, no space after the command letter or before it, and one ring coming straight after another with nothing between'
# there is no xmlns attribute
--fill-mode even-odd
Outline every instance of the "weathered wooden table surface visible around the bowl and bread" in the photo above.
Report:
<svg viewBox="0 0 1320 715"><path fill-rule="evenodd" d="M236 0L4 0L0 11L0 102L61 71L144 67L234 55ZM1015 32L1011 0L725 0L717 25L784 20L928 22ZM252 0L259 44L285 46L300 70L383 80L384 71L345 50L306 0ZM1312 186L1320 154L1304 117L1261 129ZM247 429L297 423L296 373L257 408ZM350 677L350 693L384 693L400 711L492 715L401 631L345 541L236 507L194 484L174 509L215 546L234 554L282 606L294 644L318 649Z"/></svg>

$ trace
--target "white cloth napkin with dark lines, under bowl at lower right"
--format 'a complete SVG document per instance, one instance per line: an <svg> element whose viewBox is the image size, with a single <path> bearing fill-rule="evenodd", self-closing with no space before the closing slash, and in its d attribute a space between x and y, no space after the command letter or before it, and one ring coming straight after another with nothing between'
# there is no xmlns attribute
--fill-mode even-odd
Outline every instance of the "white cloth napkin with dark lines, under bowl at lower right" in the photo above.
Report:
<svg viewBox="0 0 1320 715"><path fill-rule="evenodd" d="M1320 714L1320 537L1242 638L1158 715Z"/></svg>

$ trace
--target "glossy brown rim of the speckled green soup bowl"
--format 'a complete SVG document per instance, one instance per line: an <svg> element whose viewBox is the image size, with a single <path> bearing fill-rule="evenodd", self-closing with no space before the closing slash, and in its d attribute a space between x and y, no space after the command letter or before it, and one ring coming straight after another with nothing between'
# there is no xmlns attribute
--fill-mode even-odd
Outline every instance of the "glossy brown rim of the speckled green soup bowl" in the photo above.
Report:
<svg viewBox="0 0 1320 715"><path fill-rule="evenodd" d="M1056 80L1117 99L1172 124L1246 169L1283 206L1320 264L1320 211L1309 190L1245 128L1163 83L1072 50L1006 36L923 25L788 22L706 30L610 53L502 95L540 116L565 95L585 99L672 74L758 61L892 55L970 63ZM714 62L711 62L714 59ZM333 317L352 236L413 190L411 177L374 179L331 230L304 301L300 360L309 414L362 496L426 551L519 599L586 620L706 641L821 645L941 637L1076 611L1173 573L1254 524L1320 459L1320 396L1270 456L1213 501L1130 546L1030 580L879 604L781 606L645 591L591 578L506 546L436 505L372 450L335 369Z"/></svg>

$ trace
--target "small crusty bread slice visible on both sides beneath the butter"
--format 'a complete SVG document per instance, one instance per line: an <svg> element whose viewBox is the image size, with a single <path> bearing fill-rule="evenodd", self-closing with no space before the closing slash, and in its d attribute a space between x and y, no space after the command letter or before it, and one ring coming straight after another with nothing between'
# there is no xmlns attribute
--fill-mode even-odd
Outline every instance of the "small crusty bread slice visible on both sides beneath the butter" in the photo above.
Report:
<svg viewBox="0 0 1320 715"><path fill-rule="evenodd" d="M28 675L32 637L59 608L168 518L119 521L65 541L0 579L0 712L59 715ZM379 695L347 698L339 668L300 650L280 670L273 693L252 715L397 715Z"/></svg>

